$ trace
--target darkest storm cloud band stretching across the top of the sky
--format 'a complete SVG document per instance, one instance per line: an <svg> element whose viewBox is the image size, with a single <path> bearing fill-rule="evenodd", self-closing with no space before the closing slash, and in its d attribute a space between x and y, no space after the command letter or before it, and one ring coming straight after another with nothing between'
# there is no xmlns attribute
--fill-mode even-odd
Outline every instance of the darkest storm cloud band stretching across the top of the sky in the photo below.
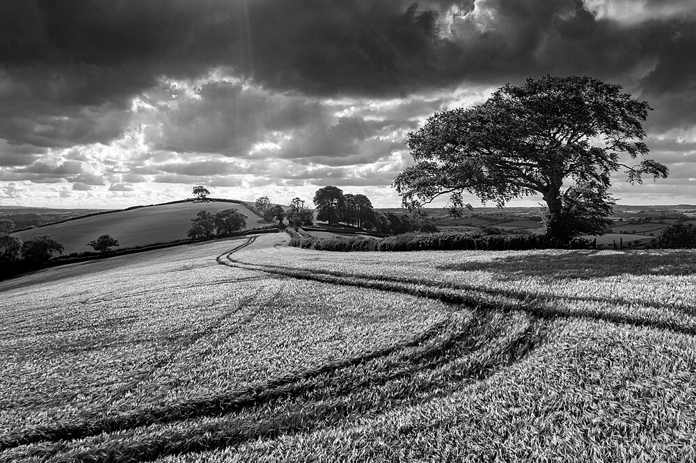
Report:
<svg viewBox="0 0 696 463"><path fill-rule="evenodd" d="M644 58L660 61L651 86L693 75L693 60L674 59L693 50L693 16L622 26L597 20L580 0L472 4L6 1L0 60L25 76L50 66L30 82L52 82L56 102L87 106L125 105L161 75L193 76L214 65L235 66L272 88L319 95L399 95L467 77L500 80L501 73L611 76ZM452 5L461 12L445 24ZM680 72L670 72L675 67Z"/></svg>

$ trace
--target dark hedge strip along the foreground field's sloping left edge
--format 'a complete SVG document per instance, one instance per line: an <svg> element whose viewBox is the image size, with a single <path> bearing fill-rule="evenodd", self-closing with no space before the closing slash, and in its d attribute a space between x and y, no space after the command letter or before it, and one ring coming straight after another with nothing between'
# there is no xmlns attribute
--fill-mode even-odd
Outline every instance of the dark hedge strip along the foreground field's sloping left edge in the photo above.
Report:
<svg viewBox="0 0 696 463"><path fill-rule="evenodd" d="M52 268L57 266L68 265L68 263L81 263L94 261L97 259L109 259L111 257L125 256L127 254L136 254L137 252L154 251L158 249L165 249L167 247L182 246L194 243L203 243L206 241L215 241L226 238L233 238L235 236L244 235L255 235L255 234L266 234L266 233L278 233L280 229L272 225L267 227L257 227L253 229L244 230L244 232L228 234L224 236L212 236L211 238L201 238L201 239L181 239L176 241L168 241L166 243L152 243L149 245L133 246L133 247L123 247L119 250L113 250L109 252L94 252L94 251L83 251L83 252L72 252L65 256L55 257L54 259L45 263L33 263L26 261L16 261L12 263L6 263L4 266L0 267L0 281L3 279L8 279L11 277L17 277L27 272L33 272L35 270L42 270L44 268Z"/></svg>

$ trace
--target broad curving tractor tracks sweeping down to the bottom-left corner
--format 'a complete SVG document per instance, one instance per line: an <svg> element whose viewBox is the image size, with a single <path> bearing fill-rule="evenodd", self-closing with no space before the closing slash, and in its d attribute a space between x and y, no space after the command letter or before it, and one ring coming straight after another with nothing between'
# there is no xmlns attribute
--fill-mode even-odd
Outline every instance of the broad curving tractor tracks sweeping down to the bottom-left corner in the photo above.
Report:
<svg viewBox="0 0 696 463"><path fill-rule="evenodd" d="M138 462L312 432L484 380L529 355L545 332L544 320L528 314L459 312L412 339L357 357L224 396L34 428L4 437L0 450L19 460ZM177 423L182 420L191 421ZM168 423L133 437L136 428ZM86 440L72 446L68 439Z"/></svg>

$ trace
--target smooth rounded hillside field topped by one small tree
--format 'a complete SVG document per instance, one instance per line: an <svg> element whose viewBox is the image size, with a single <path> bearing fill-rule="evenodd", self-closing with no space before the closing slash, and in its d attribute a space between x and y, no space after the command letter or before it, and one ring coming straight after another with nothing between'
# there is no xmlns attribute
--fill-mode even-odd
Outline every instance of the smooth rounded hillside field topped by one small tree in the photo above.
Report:
<svg viewBox="0 0 696 463"><path fill-rule="evenodd" d="M235 209L246 216L246 226L253 228L261 218L241 204L228 202L184 202L148 206L130 211L119 211L98 216L79 218L56 225L46 225L18 232L26 241L38 235L53 236L65 247L64 254L92 250L87 245L100 235L108 234L118 240L121 247L146 245L162 241L187 238L191 218L198 211L216 213Z"/></svg>

